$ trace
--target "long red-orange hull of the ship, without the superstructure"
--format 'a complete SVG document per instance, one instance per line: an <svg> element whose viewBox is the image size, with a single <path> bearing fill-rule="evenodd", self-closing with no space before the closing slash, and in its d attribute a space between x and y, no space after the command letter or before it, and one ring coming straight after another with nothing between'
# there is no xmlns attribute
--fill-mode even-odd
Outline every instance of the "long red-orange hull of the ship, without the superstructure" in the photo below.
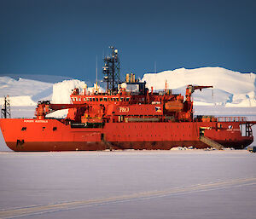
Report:
<svg viewBox="0 0 256 219"><path fill-rule="evenodd" d="M219 124L219 123L218 123ZM107 123L102 128L72 128L57 119L0 119L7 146L14 151L96 151L106 149L169 150L209 147L201 135L225 147L243 148L253 136L242 136L238 122ZM232 129L226 129L231 126ZM204 128L203 134L201 129Z"/></svg>

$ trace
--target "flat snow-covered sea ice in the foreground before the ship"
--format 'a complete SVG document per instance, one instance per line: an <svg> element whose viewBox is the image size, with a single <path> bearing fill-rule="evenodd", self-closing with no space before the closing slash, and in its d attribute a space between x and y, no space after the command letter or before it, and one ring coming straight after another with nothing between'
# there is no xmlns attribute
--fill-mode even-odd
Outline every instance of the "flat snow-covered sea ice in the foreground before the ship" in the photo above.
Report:
<svg viewBox="0 0 256 219"><path fill-rule="evenodd" d="M0 153L0 218L251 219L255 162L247 151Z"/></svg>

